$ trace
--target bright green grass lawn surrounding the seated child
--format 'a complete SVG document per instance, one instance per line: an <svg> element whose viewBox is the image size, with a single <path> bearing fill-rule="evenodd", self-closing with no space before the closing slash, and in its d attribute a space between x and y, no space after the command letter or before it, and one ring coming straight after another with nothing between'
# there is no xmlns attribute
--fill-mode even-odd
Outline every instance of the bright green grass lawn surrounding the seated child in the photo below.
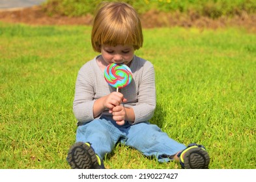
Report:
<svg viewBox="0 0 256 182"><path fill-rule="evenodd" d="M0 168L70 168L79 68L97 53L91 27L0 23ZM208 149L210 168L256 168L256 35L243 29L145 29L137 55L156 71L150 122ZM126 146L107 168L180 168Z"/></svg>

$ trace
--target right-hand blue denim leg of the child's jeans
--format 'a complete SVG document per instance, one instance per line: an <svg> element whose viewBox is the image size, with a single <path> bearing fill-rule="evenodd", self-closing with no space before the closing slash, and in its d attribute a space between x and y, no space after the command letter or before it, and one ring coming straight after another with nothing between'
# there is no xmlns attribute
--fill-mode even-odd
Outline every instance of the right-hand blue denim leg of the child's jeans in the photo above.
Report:
<svg viewBox="0 0 256 182"><path fill-rule="evenodd" d="M159 162L171 161L168 156L175 155L186 148L184 144L170 138L157 125L149 122L131 125L125 144L138 149L146 156L155 156Z"/></svg>

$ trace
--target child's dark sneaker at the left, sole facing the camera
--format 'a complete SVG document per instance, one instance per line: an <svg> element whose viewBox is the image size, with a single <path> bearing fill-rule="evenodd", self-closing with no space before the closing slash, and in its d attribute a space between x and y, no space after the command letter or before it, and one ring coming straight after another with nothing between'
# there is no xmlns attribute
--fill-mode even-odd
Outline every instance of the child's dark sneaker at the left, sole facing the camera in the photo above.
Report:
<svg viewBox="0 0 256 182"><path fill-rule="evenodd" d="M66 160L72 169L102 169L102 160L91 148L91 144L77 142L68 151Z"/></svg>

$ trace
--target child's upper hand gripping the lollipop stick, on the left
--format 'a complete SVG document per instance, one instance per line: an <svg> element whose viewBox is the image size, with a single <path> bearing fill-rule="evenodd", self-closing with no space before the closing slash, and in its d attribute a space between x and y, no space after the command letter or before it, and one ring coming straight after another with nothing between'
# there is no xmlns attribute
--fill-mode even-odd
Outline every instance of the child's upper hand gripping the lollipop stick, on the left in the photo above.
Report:
<svg viewBox="0 0 256 182"><path fill-rule="evenodd" d="M109 109L109 113L112 113L112 109L114 107L125 101L127 101L127 99L125 99L124 95L122 95L120 92L111 92L111 94L106 96L103 105L106 109Z"/></svg>

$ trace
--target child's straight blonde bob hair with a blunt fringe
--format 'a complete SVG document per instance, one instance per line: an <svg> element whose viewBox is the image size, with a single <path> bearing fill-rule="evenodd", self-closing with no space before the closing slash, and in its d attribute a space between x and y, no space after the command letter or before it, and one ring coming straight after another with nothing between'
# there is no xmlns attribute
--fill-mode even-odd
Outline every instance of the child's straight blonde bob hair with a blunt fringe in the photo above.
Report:
<svg viewBox="0 0 256 182"><path fill-rule="evenodd" d="M94 51L100 46L129 44L134 50L143 45L143 33L139 15L127 3L101 3L96 11L91 34Z"/></svg>

